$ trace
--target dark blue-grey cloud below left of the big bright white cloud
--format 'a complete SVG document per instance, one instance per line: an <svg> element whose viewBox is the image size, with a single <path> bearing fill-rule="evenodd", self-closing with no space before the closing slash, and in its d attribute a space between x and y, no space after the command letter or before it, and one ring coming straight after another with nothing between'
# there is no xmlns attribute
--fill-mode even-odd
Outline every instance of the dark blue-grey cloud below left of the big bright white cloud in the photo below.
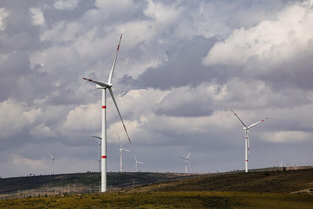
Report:
<svg viewBox="0 0 313 209"><path fill-rule="evenodd" d="M201 58L216 42L216 39L194 37L181 40L166 51L167 61L155 68L148 68L139 77L143 86L161 90L181 86L197 86L203 81L210 81L215 72L207 70L201 64Z"/></svg>

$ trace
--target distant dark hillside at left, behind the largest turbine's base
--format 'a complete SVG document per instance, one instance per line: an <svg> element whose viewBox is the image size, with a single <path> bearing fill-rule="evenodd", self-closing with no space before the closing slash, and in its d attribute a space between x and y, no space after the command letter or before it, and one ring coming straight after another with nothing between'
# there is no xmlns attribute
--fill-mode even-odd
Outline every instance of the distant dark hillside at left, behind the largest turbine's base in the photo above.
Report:
<svg viewBox="0 0 313 209"><path fill-rule="evenodd" d="M107 187L124 188L135 185L144 185L154 182L183 178L173 173L107 173ZM73 185L76 187L97 187L101 180L100 173L71 173L56 175L39 175L27 177L12 177L0 179L0 193L17 190L37 189Z"/></svg>

